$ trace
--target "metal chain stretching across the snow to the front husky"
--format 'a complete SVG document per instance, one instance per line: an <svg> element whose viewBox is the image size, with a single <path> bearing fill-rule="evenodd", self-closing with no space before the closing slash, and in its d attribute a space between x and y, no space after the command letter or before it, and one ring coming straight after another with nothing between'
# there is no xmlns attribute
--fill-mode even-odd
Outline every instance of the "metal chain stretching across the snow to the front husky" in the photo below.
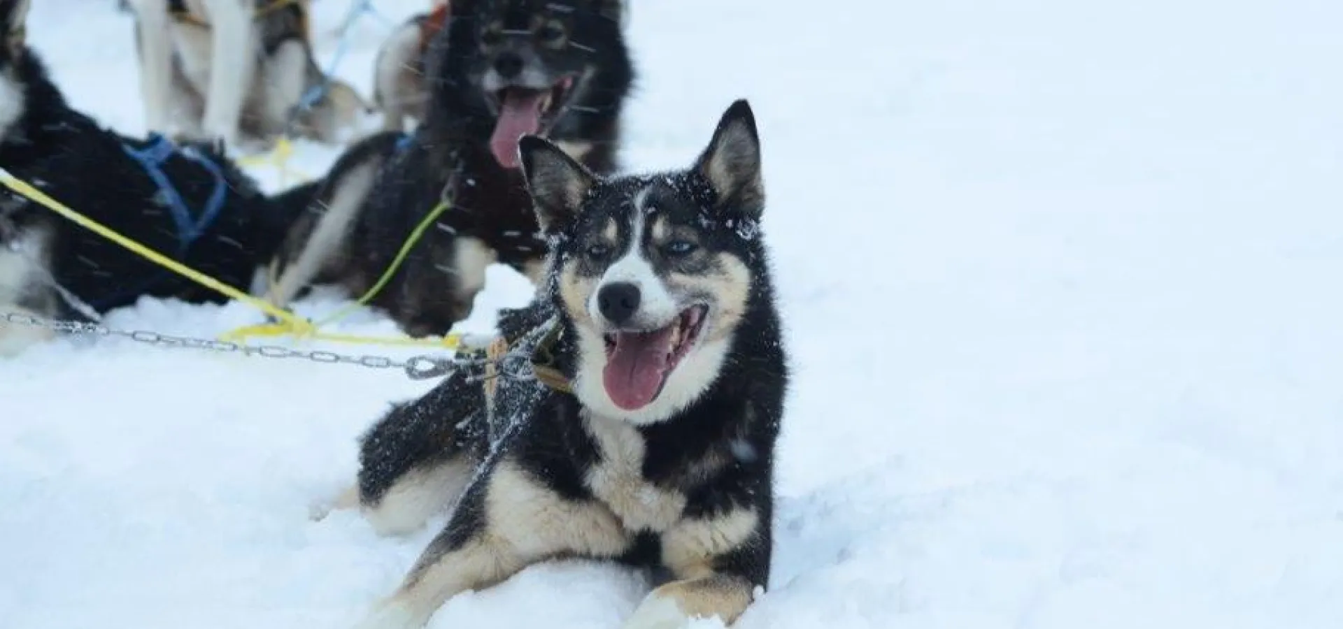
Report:
<svg viewBox="0 0 1343 629"><path fill-rule="evenodd" d="M99 323L86 323L82 321L46 319L42 317L35 317L23 312L0 312L0 321L7 321L9 323L17 323L23 326L44 327L47 330L67 333L67 334L129 338L138 343L146 343L154 347L197 349L197 350L211 350L220 353L238 353L247 357L259 355L265 358L302 358L313 362L322 362L330 365L359 365L361 367L372 367L372 369L402 369L406 371L406 376L410 377L411 380L436 378L439 376L445 376L453 371L459 366L477 362L477 361L459 359L458 357L442 357L442 355L415 355L404 361L399 361L384 355L367 355L367 354L346 355L324 350L312 350L312 351L295 350L275 345L242 345L228 341L173 337L146 330L114 330Z"/></svg>

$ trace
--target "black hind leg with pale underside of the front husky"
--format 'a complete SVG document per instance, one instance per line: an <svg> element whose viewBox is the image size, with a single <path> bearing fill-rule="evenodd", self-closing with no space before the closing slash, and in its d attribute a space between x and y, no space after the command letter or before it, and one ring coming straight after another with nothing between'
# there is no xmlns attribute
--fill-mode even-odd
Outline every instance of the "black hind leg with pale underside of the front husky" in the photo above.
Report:
<svg viewBox="0 0 1343 629"><path fill-rule="evenodd" d="M399 404L360 440L359 504L380 535L403 535L447 510L482 449L481 385L455 371Z"/></svg>

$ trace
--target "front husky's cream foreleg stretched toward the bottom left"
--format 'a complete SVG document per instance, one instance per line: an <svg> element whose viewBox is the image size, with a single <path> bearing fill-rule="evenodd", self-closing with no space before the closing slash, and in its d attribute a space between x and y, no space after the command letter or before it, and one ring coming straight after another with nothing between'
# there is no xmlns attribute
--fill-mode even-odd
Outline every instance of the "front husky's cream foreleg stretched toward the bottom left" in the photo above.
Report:
<svg viewBox="0 0 1343 629"><path fill-rule="evenodd" d="M504 460L471 484L402 586L359 626L420 628L461 591L498 583L549 557L616 557L629 543L606 507L565 499Z"/></svg>

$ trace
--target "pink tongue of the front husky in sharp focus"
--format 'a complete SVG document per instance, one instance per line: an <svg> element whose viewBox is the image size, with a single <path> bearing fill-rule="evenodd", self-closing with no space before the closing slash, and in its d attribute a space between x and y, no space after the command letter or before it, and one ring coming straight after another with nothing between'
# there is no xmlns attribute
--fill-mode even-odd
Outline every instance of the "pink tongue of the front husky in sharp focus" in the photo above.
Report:
<svg viewBox="0 0 1343 629"><path fill-rule="evenodd" d="M638 410L657 397L667 370L673 330L676 325L653 333L615 335L615 350L607 355L602 381L616 406Z"/></svg>

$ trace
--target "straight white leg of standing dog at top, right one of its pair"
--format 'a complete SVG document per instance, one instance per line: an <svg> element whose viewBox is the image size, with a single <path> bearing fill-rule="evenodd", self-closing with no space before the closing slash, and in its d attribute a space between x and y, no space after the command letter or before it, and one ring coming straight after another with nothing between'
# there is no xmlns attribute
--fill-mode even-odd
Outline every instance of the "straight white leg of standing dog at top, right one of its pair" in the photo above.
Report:
<svg viewBox="0 0 1343 629"><path fill-rule="evenodd" d="M205 94L204 130L234 145L255 74L255 31L251 3L244 0L203 0L210 12L210 90Z"/></svg>

